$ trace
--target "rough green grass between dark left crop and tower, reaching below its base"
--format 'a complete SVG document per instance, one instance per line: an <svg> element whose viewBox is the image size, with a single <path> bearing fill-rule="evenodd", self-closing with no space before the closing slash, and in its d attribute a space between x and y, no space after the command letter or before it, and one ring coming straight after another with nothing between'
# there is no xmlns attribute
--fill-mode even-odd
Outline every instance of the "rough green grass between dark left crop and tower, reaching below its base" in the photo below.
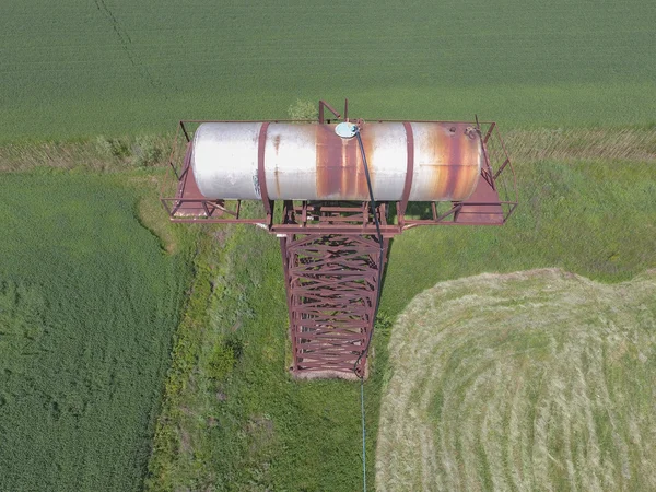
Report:
<svg viewBox="0 0 656 492"><path fill-rule="evenodd" d="M199 236L147 489L358 489L359 387L288 375L278 242L250 227L213 231L219 241ZM373 435L378 386L367 383Z"/></svg>

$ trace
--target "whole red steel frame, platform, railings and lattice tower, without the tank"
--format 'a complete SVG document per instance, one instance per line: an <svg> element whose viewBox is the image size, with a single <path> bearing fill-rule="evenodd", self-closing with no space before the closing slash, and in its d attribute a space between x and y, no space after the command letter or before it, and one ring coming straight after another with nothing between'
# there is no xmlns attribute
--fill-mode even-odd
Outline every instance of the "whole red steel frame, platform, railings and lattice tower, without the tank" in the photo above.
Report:
<svg viewBox="0 0 656 492"><path fill-rule="evenodd" d="M319 103L339 119L327 103ZM344 119L348 102L344 105ZM258 138L258 178L265 215L243 216L241 200L210 200L203 197L190 169L190 127L202 121L180 121L169 159L171 168L161 200L173 222L256 224L280 237L285 277L292 374L297 377L349 377L365 374L365 345L374 325L378 290L379 244L368 202L313 202L269 200L263 168L263 121ZM384 121L384 120L375 120ZM384 237L385 258L389 238L419 225L501 225L518 203L517 183L511 160L495 122L472 122L479 131L484 165L478 186L465 201L426 202L409 210L408 197L414 166L413 134L408 136L408 165L401 200L378 203L376 215ZM432 121L437 122L437 121ZM508 176L509 183L505 179ZM172 180L172 176L175 176ZM503 177L504 179L500 179ZM165 187L168 186L168 189ZM501 199L501 196L507 197ZM418 207L414 207L418 209ZM358 362L359 361L359 362ZM355 367L355 363L358 366Z"/></svg>

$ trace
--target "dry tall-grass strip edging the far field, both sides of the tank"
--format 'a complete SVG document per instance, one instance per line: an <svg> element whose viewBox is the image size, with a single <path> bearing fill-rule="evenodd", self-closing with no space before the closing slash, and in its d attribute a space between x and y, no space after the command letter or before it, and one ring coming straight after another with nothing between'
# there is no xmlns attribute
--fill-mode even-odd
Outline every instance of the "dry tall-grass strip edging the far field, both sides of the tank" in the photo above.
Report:
<svg viewBox="0 0 656 492"><path fill-rule="evenodd" d="M297 108L292 108L298 110ZM303 116L309 113L302 106ZM613 159L618 161L656 161L654 128L514 128L503 138L512 150L513 162L573 162ZM173 136L141 136L61 140L52 142L14 142L0 144L0 172L30 171L47 165L61 169L122 172L131 168L164 167L171 153Z"/></svg>

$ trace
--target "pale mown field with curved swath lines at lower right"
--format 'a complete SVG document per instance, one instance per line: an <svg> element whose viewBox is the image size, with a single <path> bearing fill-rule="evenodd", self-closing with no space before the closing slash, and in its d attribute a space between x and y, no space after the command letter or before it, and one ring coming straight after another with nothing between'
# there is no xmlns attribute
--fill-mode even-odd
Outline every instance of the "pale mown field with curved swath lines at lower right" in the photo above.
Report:
<svg viewBox="0 0 656 492"><path fill-rule="evenodd" d="M399 317L376 489L656 490L656 271L443 282Z"/></svg>

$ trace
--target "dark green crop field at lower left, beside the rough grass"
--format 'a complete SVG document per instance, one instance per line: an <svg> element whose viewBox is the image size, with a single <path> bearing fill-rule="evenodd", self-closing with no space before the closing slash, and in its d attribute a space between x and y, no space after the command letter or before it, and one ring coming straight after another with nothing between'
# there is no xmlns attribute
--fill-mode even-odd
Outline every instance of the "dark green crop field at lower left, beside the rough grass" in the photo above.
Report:
<svg viewBox="0 0 656 492"><path fill-rule="evenodd" d="M188 253L124 179L0 174L2 491L141 488Z"/></svg>

